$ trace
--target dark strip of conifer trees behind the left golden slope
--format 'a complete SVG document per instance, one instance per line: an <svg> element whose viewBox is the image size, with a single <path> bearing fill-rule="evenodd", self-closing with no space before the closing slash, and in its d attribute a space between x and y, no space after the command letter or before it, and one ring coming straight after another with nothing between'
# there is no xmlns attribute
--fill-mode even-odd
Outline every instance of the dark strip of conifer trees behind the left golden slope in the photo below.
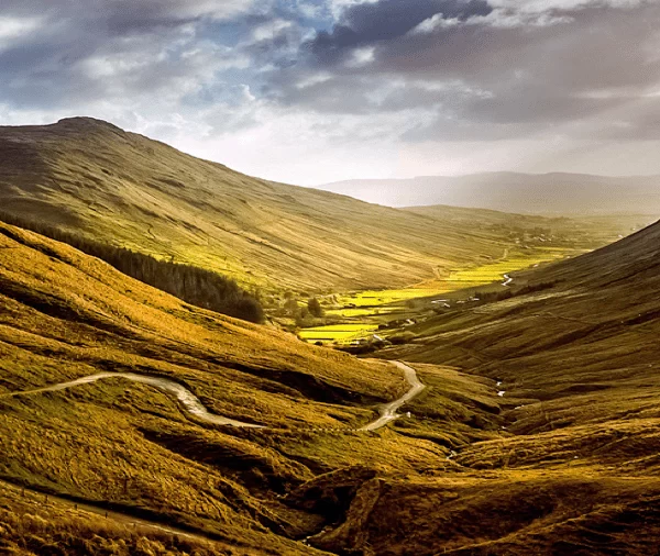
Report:
<svg viewBox="0 0 660 556"><path fill-rule="evenodd" d="M105 260L119 271L176 296L187 303L244 321L255 323L265 321L264 310L258 299L226 276L191 265L158 260L148 255L106 245L4 212L0 212L0 220L67 243L82 253Z"/></svg>

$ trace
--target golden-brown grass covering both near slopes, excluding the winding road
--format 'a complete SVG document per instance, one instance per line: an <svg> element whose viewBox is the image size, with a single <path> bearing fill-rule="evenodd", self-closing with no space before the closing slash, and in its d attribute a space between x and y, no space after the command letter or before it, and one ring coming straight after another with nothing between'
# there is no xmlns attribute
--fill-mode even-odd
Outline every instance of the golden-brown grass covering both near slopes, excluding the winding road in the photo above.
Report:
<svg viewBox="0 0 660 556"><path fill-rule="evenodd" d="M234 554L652 554L660 379L649 365L660 348L649 253L631 262L608 248L595 282L571 281L573 264L592 278L585 268L605 268L592 256L549 267L538 280L565 280L553 289L419 325L419 340L383 356L422 362L413 365L427 389L403 408L409 418L356 433L407 387L394 366L186 305L0 225L0 476L212 535L211 549ZM211 411L274 430L205 425L121 380L2 397L99 370L168 377ZM0 502L14 552L207 549L106 530L70 508L28 509L4 491ZM299 542L309 535L312 547Z"/></svg>

